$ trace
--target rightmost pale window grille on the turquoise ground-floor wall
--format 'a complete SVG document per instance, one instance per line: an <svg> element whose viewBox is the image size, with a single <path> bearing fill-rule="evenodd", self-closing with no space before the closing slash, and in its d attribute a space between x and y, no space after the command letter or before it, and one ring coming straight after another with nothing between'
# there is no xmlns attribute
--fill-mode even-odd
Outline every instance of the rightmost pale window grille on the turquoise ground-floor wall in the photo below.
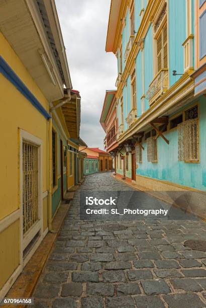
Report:
<svg viewBox="0 0 206 308"><path fill-rule="evenodd" d="M178 161L198 162L198 119L178 124Z"/></svg>

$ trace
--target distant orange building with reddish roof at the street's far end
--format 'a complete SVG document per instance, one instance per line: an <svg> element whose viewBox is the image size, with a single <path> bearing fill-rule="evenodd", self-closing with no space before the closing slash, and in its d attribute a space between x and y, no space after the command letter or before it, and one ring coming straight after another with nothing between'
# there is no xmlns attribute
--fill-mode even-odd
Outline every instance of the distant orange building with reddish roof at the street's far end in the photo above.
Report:
<svg viewBox="0 0 206 308"><path fill-rule="evenodd" d="M110 153L107 153L106 151L103 151L99 149L98 147L83 147L80 146L79 150L84 151L88 156L92 156L92 158L98 159L98 171L99 172L106 172L106 171L112 171L113 169L113 160ZM87 158L84 160L86 161ZM86 174L86 169L84 169ZM87 169L88 170L88 169Z"/></svg>

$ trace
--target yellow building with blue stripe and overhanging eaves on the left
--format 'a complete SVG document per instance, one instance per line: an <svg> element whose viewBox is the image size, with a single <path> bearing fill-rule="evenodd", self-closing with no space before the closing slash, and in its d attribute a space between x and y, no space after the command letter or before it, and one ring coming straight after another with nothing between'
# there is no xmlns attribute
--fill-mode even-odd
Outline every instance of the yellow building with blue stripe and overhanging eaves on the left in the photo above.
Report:
<svg viewBox="0 0 206 308"><path fill-rule="evenodd" d="M80 96L54 0L0 3L0 297L78 184ZM76 174L75 174L76 172Z"/></svg>

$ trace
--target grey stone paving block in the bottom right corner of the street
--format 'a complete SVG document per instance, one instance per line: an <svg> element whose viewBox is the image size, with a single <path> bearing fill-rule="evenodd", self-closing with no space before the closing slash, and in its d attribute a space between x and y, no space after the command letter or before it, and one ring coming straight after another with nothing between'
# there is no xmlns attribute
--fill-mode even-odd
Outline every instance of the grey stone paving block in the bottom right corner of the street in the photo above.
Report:
<svg viewBox="0 0 206 308"><path fill-rule="evenodd" d="M169 308L200 308L205 307L199 296L195 293L168 294L163 296Z"/></svg>

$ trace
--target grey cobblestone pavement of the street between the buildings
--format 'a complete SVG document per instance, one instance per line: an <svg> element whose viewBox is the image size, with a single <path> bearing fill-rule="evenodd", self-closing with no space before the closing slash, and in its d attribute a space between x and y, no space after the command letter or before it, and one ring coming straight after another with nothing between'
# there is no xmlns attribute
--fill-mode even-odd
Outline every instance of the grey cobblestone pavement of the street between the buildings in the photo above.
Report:
<svg viewBox="0 0 206 308"><path fill-rule="evenodd" d="M132 188L104 173L80 189ZM206 253L183 246L206 239L205 222L80 220L80 189L35 289L36 307L206 307ZM127 228L107 231L106 223Z"/></svg>

